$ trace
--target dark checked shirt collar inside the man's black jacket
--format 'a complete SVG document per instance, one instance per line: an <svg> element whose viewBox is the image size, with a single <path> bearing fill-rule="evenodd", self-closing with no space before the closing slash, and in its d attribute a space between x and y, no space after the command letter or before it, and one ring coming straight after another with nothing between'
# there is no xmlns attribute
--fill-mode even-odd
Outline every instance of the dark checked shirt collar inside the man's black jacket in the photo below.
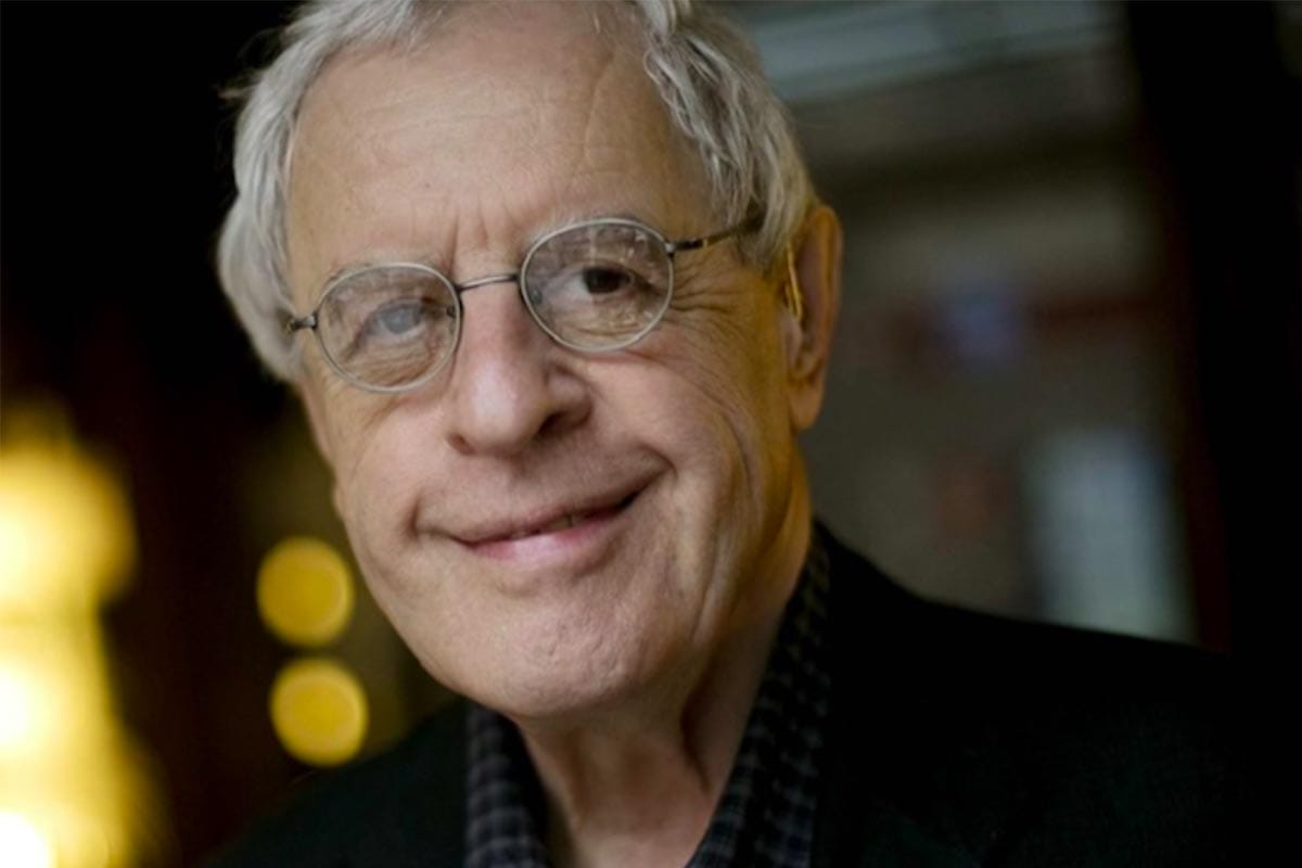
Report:
<svg viewBox="0 0 1302 868"><path fill-rule="evenodd" d="M810 864L832 692L828 590L827 550L815 527L732 774L687 868ZM542 789L519 733L475 704L467 726L466 868L549 868Z"/></svg>

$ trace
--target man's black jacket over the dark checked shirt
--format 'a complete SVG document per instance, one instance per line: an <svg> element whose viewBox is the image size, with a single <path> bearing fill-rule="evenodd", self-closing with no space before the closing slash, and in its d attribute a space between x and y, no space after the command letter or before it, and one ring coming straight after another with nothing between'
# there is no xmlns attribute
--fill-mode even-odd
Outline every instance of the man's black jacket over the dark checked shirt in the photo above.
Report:
<svg viewBox="0 0 1302 868"><path fill-rule="evenodd" d="M818 867L1221 865L1251 787L1226 660L919 600L829 535ZM457 704L217 865L460 865Z"/></svg>

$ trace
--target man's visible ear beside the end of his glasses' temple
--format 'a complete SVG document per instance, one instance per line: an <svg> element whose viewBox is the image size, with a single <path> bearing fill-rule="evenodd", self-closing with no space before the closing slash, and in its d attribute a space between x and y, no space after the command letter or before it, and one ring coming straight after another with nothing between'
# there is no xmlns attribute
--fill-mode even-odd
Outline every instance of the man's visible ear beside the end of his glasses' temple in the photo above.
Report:
<svg viewBox="0 0 1302 868"><path fill-rule="evenodd" d="M792 428L805 431L823 407L832 332L841 306L841 221L827 206L805 220L797 241L784 254L784 294L789 303L786 390ZM794 285L793 285L794 284Z"/></svg>

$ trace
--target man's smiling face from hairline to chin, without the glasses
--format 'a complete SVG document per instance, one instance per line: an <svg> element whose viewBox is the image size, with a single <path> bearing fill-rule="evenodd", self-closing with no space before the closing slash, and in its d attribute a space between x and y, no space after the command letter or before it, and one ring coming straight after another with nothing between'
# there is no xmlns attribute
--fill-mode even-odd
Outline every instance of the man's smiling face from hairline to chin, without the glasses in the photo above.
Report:
<svg viewBox="0 0 1302 868"><path fill-rule="evenodd" d="M603 23L582 4L490 5L415 55L332 64L293 150L298 308L363 262L513 272L578 219L721 229L641 51ZM803 554L773 285L730 243L684 254L660 327L595 355L552 342L513 284L462 301L456 357L414 392L361 390L306 354L376 600L436 678L517 716L691 683Z"/></svg>

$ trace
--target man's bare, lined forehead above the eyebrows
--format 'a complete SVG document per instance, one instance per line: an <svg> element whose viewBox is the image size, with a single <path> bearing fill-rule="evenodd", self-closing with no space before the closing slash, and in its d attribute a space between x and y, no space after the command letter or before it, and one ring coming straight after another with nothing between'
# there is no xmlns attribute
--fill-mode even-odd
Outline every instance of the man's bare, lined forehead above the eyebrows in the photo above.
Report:
<svg viewBox="0 0 1302 868"><path fill-rule="evenodd" d="M609 9L475 4L414 51L332 61L292 150L296 294L350 263L450 265L582 216L634 213L677 230L704 210L706 185L642 52Z"/></svg>

